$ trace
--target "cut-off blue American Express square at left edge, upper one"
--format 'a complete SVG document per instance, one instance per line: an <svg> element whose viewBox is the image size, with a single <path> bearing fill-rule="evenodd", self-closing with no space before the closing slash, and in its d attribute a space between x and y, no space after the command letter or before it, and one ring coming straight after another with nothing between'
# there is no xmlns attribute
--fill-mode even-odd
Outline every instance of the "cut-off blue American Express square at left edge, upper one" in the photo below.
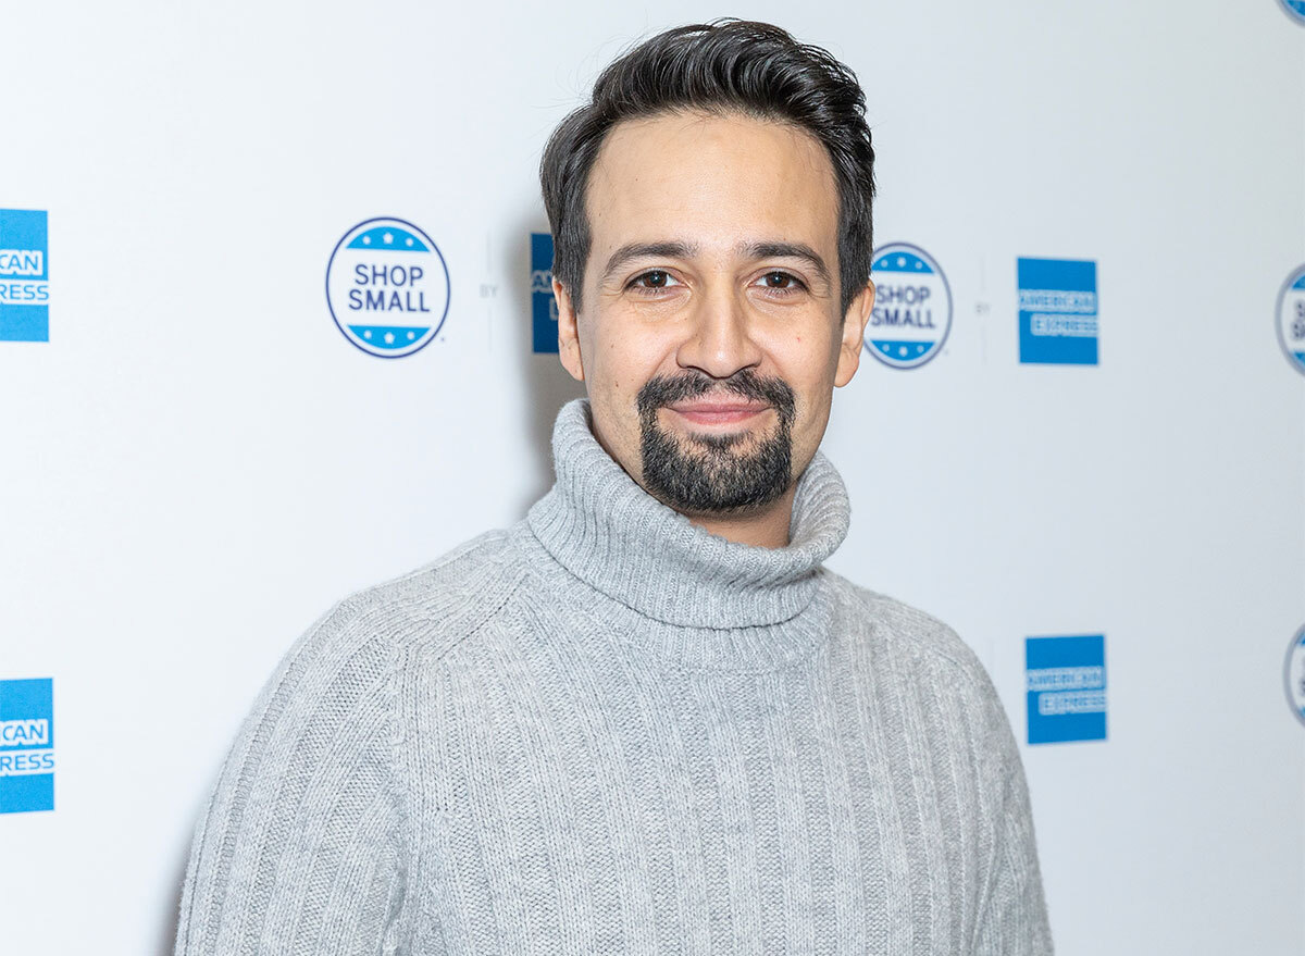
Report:
<svg viewBox="0 0 1305 956"><path fill-rule="evenodd" d="M0 209L0 342L50 341L46 213Z"/></svg>

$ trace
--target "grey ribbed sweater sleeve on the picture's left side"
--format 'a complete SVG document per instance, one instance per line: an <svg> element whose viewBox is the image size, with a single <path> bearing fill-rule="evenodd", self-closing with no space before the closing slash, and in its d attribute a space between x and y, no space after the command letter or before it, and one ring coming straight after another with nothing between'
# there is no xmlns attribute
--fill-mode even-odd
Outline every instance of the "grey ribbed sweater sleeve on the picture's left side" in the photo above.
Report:
<svg viewBox="0 0 1305 956"><path fill-rule="evenodd" d="M196 829L177 956L398 948L394 654L373 629L337 607L258 696Z"/></svg>

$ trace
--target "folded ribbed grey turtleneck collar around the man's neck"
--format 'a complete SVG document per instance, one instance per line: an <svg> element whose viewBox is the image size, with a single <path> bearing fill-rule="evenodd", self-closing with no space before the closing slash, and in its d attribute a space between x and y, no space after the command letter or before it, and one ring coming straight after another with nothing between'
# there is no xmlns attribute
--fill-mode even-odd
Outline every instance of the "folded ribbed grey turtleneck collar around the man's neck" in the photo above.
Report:
<svg viewBox="0 0 1305 956"><path fill-rule="evenodd" d="M526 518L535 537L576 577L667 624L788 620L847 535L847 488L820 452L797 482L790 545L775 549L711 534L649 495L594 438L585 398L557 415L553 465L553 488Z"/></svg>

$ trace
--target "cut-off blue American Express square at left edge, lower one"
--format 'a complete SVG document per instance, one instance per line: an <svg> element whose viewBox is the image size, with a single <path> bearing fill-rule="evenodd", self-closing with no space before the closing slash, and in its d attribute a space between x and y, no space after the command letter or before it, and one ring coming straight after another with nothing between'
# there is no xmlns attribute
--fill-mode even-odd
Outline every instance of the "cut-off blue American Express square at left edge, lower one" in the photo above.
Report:
<svg viewBox="0 0 1305 956"><path fill-rule="evenodd" d="M54 680L0 680L0 814L55 808Z"/></svg>

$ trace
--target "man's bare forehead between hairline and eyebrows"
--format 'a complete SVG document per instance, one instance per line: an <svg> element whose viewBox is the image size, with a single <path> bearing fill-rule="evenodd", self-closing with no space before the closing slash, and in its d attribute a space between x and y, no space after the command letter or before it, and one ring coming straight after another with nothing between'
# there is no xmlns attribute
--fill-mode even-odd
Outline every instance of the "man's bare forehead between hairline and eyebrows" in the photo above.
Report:
<svg viewBox="0 0 1305 956"><path fill-rule="evenodd" d="M591 256L628 242L805 242L830 256L838 191L825 146L795 125L740 114L619 123L590 174Z"/></svg>

